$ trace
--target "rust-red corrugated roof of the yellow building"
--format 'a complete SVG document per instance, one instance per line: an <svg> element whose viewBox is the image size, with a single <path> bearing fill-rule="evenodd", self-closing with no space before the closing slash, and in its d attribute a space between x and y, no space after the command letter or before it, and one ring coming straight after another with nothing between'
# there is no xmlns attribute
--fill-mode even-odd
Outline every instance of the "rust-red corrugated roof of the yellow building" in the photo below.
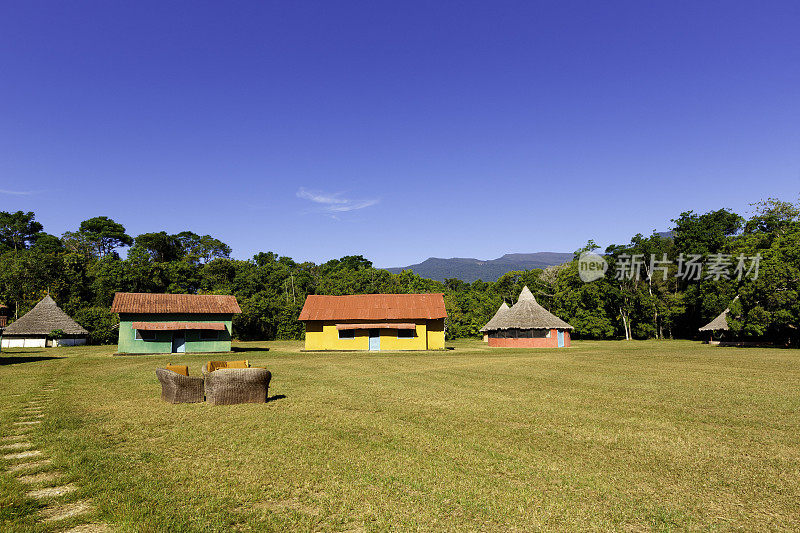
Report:
<svg viewBox="0 0 800 533"><path fill-rule="evenodd" d="M444 295L355 294L310 295L300 320L407 320L445 318Z"/></svg>

